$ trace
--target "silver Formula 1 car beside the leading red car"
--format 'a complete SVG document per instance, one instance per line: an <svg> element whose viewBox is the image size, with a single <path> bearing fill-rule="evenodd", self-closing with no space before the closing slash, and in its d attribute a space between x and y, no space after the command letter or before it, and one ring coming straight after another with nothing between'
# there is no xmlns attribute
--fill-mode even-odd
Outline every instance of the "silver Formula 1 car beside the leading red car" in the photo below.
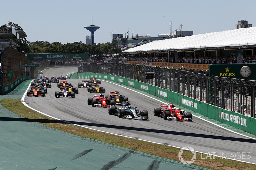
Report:
<svg viewBox="0 0 256 170"><path fill-rule="evenodd" d="M140 111L137 107L131 107L129 102L125 103L122 108L117 108L116 105L110 105L108 107L108 114L116 115L119 118L149 120L147 110Z"/></svg>

